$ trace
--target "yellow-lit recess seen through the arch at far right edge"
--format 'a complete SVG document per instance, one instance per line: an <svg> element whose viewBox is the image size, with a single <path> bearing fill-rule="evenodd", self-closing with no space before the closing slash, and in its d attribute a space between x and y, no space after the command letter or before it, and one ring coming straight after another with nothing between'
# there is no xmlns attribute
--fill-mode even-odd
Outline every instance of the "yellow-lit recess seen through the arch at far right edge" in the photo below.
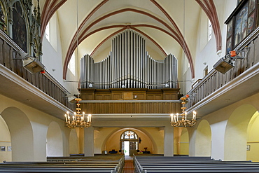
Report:
<svg viewBox="0 0 259 173"><path fill-rule="evenodd" d="M247 128L247 146L246 148L246 160L252 160L253 162L259 162L259 113L256 111L253 117L249 121Z"/></svg>

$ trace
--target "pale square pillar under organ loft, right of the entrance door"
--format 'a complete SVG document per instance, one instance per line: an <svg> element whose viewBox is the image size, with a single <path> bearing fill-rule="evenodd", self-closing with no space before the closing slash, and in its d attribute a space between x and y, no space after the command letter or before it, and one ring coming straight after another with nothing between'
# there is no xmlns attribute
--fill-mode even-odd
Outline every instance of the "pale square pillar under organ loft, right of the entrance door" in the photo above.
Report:
<svg viewBox="0 0 259 173"><path fill-rule="evenodd" d="M174 156L174 127L165 126L164 133L164 156Z"/></svg>

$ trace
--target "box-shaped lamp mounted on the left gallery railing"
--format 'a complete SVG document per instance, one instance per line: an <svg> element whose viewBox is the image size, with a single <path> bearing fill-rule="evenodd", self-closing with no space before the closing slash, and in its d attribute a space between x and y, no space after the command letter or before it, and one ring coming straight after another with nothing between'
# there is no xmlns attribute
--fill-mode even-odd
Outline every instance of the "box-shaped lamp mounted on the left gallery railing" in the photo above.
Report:
<svg viewBox="0 0 259 173"><path fill-rule="evenodd" d="M37 57L32 57L22 51L15 51L14 53L18 53L20 56L20 58L14 58L14 60L22 60L23 67L31 74L36 74L38 71L45 73L45 66L38 60Z"/></svg>

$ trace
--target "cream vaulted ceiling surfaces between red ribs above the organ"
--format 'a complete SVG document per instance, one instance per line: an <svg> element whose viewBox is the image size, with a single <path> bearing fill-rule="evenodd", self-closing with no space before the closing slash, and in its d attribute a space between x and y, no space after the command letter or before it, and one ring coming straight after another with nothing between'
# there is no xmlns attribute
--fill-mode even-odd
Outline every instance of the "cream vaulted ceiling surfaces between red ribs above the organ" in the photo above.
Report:
<svg viewBox="0 0 259 173"><path fill-rule="evenodd" d="M62 0L59 0L62 1ZM82 24L83 20L87 18L88 15L96 8L102 1L101 0L69 0L66 1L57 10L59 29L62 38L62 54L63 57L69 52L69 45L72 42L73 36L76 34L76 29ZM170 18L174 20L181 34L184 36L187 42L187 46L190 48L192 55L195 55L195 40L197 32L197 24L200 20L201 8L194 0L157 0L156 1L162 8L169 14ZM41 9L45 1L41 1ZM183 6L185 4L185 6ZM172 22L169 21L167 16L162 13L158 6L155 6L150 0L109 0L106 1L104 5L95 11L92 16L85 22L80 33L87 27L89 27L92 22L96 22L99 18L104 15L112 13L114 11L123 10L126 8L131 8L133 10L141 11L140 13L133 11L126 11L123 13L118 13L112 15L109 18L105 18L92 25L85 34L89 34L95 29L100 29L102 27L108 27L111 25L153 25L165 29L165 31L172 33L165 25L161 22L151 18L151 15L155 16L159 20L165 22L169 27L175 30ZM142 12L148 13L149 15L141 14ZM183 19L184 18L184 19ZM165 53L172 53L173 55L181 55L181 46L175 41L171 36L165 34L164 32L153 29L150 27L136 27L137 29L144 32L146 35L150 36L158 45L165 50ZM112 29L105 29L84 39L80 43L79 57L85 54L91 54L94 48L98 46L99 43L104 41L107 36L110 36L114 32L122 29L122 27L116 27ZM85 35L84 34L84 35ZM79 36L80 37L80 34ZM165 55L161 52L158 46L152 41L147 41L147 46L151 52L151 57L154 59L162 59ZM109 55L111 50L111 39L108 39L99 49L94 53L93 57L96 61L105 58L104 55ZM152 55L153 54L153 55ZM181 58L181 57L178 57Z"/></svg>

